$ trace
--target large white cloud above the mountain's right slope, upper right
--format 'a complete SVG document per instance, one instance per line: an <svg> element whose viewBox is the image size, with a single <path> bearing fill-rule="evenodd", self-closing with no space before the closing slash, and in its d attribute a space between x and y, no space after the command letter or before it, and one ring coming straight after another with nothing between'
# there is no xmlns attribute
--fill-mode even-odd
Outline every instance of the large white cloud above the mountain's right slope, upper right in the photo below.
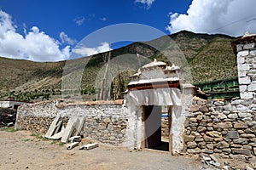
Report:
<svg viewBox="0 0 256 170"><path fill-rule="evenodd" d="M166 30L222 33L242 36L256 33L255 0L193 0L187 14L170 13Z"/></svg>

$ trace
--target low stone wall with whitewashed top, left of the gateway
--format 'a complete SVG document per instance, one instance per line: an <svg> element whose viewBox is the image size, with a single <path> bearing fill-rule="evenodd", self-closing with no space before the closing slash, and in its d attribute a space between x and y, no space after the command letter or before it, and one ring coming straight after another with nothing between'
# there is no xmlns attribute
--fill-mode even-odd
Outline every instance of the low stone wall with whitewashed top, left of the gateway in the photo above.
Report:
<svg viewBox="0 0 256 170"><path fill-rule="evenodd" d="M35 133L46 133L57 114L61 114L64 126L70 116L85 116L84 137L106 144L125 142L127 109L122 105L61 105L49 101L18 108L15 127Z"/></svg>

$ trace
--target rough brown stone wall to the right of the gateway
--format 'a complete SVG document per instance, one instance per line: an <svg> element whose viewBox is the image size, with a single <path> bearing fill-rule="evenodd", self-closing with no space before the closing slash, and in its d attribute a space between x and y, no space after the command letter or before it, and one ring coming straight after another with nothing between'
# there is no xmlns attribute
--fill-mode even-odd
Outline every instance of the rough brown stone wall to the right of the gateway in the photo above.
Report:
<svg viewBox="0 0 256 170"><path fill-rule="evenodd" d="M184 151L227 157L256 155L256 99L194 98L185 122Z"/></svg>

